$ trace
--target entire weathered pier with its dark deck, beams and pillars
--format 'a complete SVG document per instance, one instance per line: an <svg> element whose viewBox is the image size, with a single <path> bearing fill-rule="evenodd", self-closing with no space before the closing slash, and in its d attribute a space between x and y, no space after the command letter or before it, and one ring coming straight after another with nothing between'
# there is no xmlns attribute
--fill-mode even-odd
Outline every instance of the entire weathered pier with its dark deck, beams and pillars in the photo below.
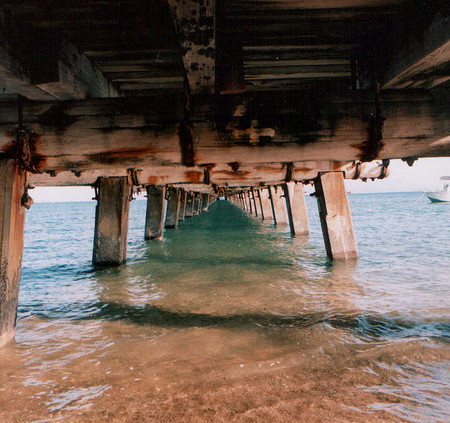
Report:
<svg viewBox="0 0 450 423"><path fill-rule="evenodd" d="M409 0L4 0L0 346L14 337L33 187L92 186L92 262L227 199L358 256L345 179L450 156L450 7Z"/></svg>

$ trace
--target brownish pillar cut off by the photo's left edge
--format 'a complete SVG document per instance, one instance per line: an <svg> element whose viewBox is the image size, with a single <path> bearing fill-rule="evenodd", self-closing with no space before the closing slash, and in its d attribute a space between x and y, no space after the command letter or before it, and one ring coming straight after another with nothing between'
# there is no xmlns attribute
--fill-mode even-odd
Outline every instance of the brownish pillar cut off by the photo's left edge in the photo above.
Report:
<svg viewBox="0 0 450 423"><path fill-rule="evenodd" d="M14 338L22 270L25 172L0 160L0 347Z"/></svg>

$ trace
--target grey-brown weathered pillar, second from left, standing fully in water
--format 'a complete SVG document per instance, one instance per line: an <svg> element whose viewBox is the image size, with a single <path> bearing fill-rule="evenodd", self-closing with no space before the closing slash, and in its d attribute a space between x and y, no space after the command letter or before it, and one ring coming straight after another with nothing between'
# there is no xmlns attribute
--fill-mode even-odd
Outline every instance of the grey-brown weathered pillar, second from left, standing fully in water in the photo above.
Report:
<svg viewBox="0 0 450 423"><path fill-rule="evenodd" d="M99 178L97 183L92 263L119 265L127 260L131 184L126 176Z"/></svg>

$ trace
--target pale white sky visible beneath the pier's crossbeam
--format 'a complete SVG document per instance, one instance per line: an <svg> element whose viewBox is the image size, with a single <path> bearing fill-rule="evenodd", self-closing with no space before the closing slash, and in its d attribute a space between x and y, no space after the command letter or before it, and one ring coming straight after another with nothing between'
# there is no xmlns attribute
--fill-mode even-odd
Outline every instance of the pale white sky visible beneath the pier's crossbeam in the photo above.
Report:
<svg viewBox="0 0 450 423"><path fill-rule="evenodd" d="M450 176L450 158L419 159L412 167L401 160L392 160L388 178L375 181L346 180L347 190L356 193L439 191L441 176ZM30 196L35 202L91 201L94 191L89 187L40 187Z"/></svg>

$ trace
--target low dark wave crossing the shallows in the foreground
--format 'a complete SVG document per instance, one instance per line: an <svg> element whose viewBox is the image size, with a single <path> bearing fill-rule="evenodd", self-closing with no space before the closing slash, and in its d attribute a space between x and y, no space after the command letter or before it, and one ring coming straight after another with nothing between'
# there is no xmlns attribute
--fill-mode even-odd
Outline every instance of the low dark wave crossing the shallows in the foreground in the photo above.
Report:
<svg viewBox="0 0 450 423"><path fill-rule="evenodd" d="M29 310L27 310L29 315ZM226 327L230 329L301 329L327 324L346 330L362 340L392 340L401 338L436 338L450 342L450 321L418 320L367 313L329 314L309 313L301 315L229 314L214 315L166 310L155 305L130 305L114 302L72 304L70 307L47 308L33 313L41 318L65 318L70 320L101 319L105 321L129 321L137 325L163 327Z"/></svg>

